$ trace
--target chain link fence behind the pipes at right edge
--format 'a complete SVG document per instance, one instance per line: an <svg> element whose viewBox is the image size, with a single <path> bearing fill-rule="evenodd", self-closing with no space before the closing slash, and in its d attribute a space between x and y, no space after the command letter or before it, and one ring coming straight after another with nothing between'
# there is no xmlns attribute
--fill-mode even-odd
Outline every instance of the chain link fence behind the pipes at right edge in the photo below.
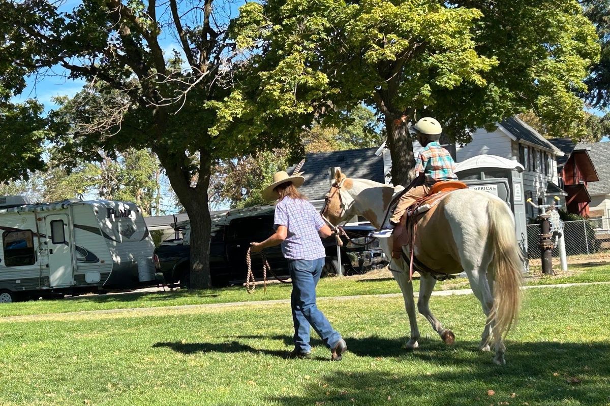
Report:
<svg viewBox="0 0 610 406"><path fill-rule="evenodd" d="M528 225L527 230L528 258L540 259L540 225ZM564 222L564 239L568 262L570 259L610 258L610 219ZM559 257L558 247L553 248L553 257Z"/></svg>

